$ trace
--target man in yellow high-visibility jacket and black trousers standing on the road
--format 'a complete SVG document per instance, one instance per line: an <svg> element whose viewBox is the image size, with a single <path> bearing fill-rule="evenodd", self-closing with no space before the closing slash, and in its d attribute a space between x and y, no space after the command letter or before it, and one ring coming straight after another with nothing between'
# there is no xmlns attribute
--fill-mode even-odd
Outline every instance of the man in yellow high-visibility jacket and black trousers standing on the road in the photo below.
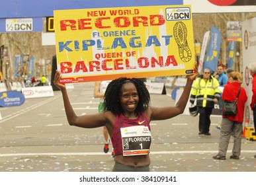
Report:
<svg viewBox="0 0 256 185"><path fill-rule="evenodd" d="M204 69L200 77L194 80L191 89L190 102L198 107L199 116L199 135L210 135L210 115L214 103L220 98L218 80L210 74L210 69Z"/></svg>

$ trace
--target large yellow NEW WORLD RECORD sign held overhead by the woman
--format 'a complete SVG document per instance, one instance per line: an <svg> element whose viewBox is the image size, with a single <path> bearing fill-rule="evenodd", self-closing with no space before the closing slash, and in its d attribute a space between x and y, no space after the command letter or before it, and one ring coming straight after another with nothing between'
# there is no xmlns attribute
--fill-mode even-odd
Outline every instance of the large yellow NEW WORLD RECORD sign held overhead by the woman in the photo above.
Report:
<svg viewBox="0 0 256 185"><path fill-rule="evenodd" d="M190 5L54 11L61 83L194 73Z"/></svg>

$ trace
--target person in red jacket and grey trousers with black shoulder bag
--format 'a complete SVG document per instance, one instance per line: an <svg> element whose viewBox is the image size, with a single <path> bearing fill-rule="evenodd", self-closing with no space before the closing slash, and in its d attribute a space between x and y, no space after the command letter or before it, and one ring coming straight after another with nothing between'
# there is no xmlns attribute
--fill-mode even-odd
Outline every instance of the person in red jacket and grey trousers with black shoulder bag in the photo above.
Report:
<svg viewBox="0 0 256 185"><path fill-rule="evenodd" d="M233 71L228 74L229 83L225 86L222 100L233 102L237 98L237 114L235 116L222 116L222 128L220 129L220 143L218 147L218 154L212 157L213 159L225 160L230 143L231 135L234 136L234 146L230 159L239 159L241 154L241 138L243 132L243 112L247 95L245 89L241 87L241 73Z"/></svg>

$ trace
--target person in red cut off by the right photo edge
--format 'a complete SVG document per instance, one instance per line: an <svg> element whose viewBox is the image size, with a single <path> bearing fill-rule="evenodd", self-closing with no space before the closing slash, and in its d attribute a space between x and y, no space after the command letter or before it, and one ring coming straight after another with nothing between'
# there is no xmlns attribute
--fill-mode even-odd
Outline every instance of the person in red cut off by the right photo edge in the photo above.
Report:
<svg viewBox="0 0 256 185"><path fill-rule="evenodd" d="M253 96L251 97L250 106L251 110L253 110L253 124L256 131L256 63L249 64L249 73L253 77L253 81L251 81L251 91L253 91ZM256 158L256 155L254 155L254 158Z"/></svg>

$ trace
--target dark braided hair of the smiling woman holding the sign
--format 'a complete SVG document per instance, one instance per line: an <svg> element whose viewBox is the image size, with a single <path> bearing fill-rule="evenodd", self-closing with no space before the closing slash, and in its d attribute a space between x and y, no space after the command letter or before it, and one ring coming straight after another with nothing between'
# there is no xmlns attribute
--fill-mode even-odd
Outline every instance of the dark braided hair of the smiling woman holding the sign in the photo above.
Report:
<svg viewBox="0 0 256 185"><path fill-rule="evenodd" d="M135 85L138 96L140 98L135 111L137 114L142 114L142 112L144 112L144 110L146 110L150 104L150 96L145 83L142 80L136 78L130 79L121 77L111 81L108 84L103 101L105 110L111 111L115 115L120 115L123 113L122 106L120 105L120 96L122 85L125 83L133 83Z"/></svg>

